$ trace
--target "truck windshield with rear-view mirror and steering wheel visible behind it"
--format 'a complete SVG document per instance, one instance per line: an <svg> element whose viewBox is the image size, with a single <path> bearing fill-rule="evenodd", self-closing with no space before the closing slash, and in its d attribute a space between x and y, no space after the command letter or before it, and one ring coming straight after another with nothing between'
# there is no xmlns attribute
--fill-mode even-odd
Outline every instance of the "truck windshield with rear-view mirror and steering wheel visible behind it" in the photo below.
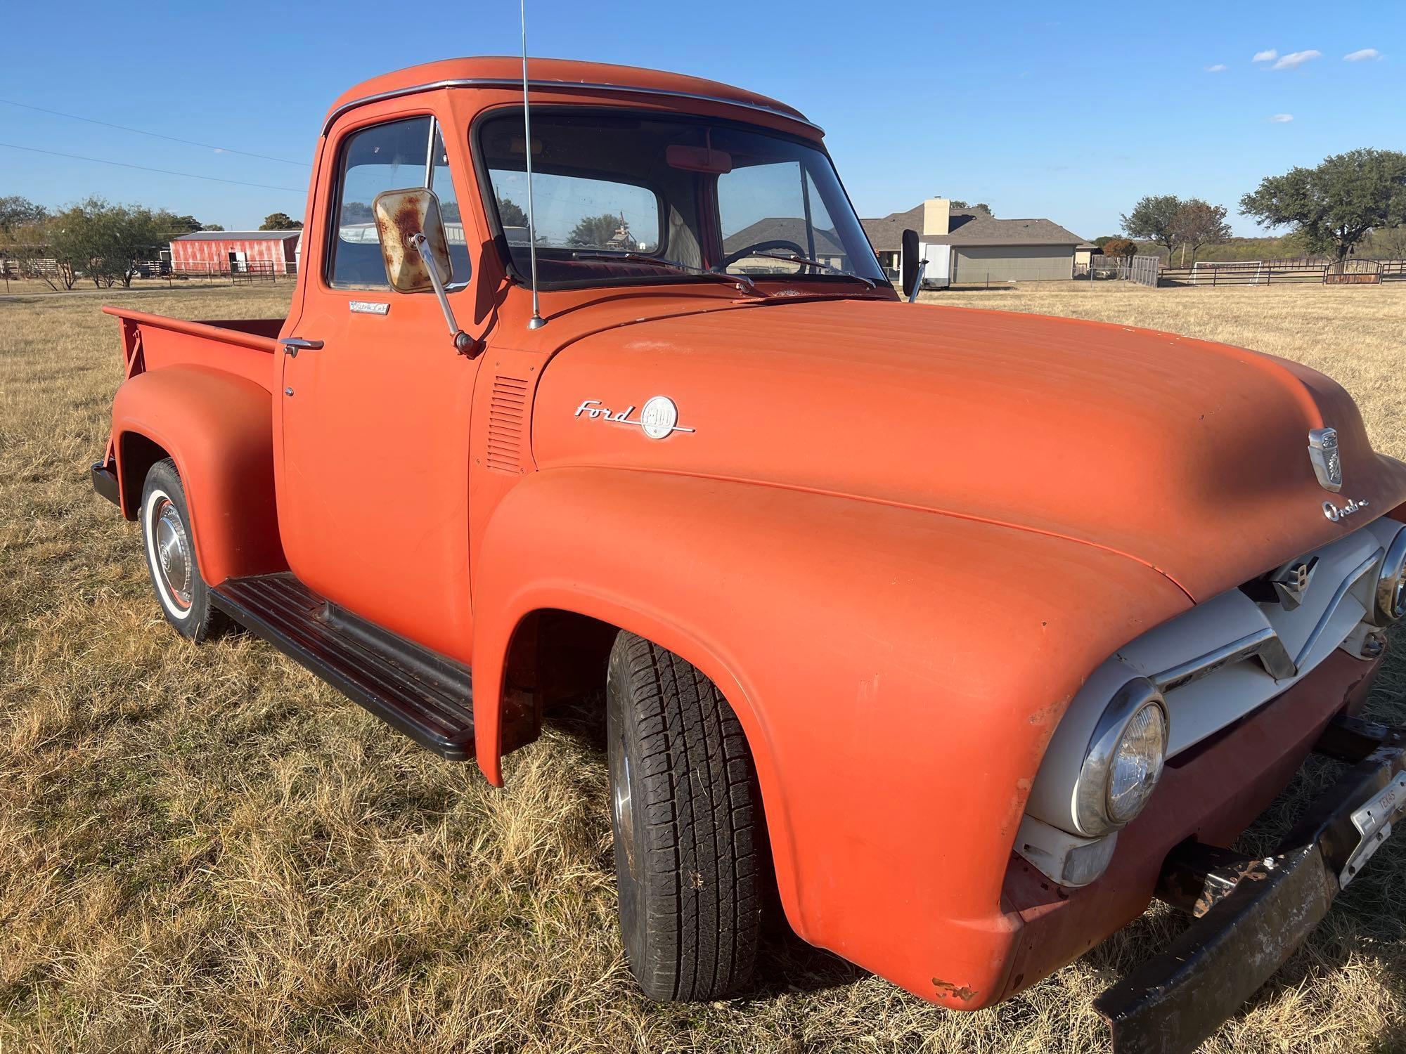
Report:
<svg viewBox="0 0 1406 1054"><path fill-rule="evenodd" d="M522 110L485 119L478 148L513 268L526 275ZM531 111L531 148L541 285L718 274L887 284L814 146L706 119L544 107Z"/></svg>

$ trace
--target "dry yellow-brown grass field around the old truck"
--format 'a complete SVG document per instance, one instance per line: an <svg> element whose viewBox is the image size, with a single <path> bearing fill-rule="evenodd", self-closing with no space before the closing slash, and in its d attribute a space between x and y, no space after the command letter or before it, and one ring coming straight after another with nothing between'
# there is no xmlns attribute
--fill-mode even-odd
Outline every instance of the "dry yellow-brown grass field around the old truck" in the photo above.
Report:
<svg viewBox="0 0 1406 1054"><path fill-rule="evenodd" d="M281 313L288 294L105 299L229 318ZM935 299L1310 363L1360 399L1381 450L1406 457L1406 284ZM0 1051L1104 1047L1090 999L1175 916L1153 912L980 1013L914 999L783 926L754 991L645 1002L616 937L605 759L586 708L509 757L501 793L257 639L193 648L166 627L136 528L89 488L121 378L98 302L0 301ZM1403 690L1398 659L1372 711L1406 721ZM1324 779L1312 767L1247 845L1271 845ZM1406 1048L1403 878L1398 838L1209 1048Z"/></svg>

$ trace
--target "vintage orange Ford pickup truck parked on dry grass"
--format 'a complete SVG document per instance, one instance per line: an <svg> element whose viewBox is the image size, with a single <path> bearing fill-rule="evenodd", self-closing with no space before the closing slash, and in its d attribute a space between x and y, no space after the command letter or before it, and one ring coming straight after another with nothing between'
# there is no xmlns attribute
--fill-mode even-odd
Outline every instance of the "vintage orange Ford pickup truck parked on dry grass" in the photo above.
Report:
<svg viewBox="0 0 1406 1054"><path fill-rule="evenodd" d="M520 77L336 101L287 319L110 309L93 483L166 618L246 627L494 784L603 690L650 996L735 991L776 901L983 1008L1157 897L1194 920L1097 1005L1121 1050L1197 1043L1406 802L1400 729L1358 715L1406 465L1294 363L904 302L782 103ZM1310 752L1341 781L1232 852Z"/></svg>

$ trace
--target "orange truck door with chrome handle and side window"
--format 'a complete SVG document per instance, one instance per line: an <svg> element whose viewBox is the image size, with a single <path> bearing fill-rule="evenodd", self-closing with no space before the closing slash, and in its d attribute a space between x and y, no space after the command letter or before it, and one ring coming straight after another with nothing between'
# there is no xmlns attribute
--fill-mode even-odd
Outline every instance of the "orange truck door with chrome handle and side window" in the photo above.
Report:
<svg viewBox="0 0 1406 1054"><path fill-rule="evenodd" d="M333 128L336 162L319 169L305 230L302 311L285 333L302 346L284 346L276 395L280 530L292 572L312 590L467 662L478 363L456 354L432 294L389 288L371 215L384 190L429 186L439 195L449 295L470 316L471 219L458 209L458 190L471 186L467 145L446 152L429 114L366 121L347 115L344 132Z"/></svg>

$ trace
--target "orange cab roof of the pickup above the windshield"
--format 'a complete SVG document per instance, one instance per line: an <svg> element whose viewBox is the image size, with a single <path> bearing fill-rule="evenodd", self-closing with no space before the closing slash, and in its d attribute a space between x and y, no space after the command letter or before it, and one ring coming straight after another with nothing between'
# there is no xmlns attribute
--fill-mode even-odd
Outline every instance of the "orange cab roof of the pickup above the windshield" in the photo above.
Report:
<svg viewBox="0 0 1406 1054"><path fill-rule="evenodd" d="M426 62L419 66L406 66L392 73L382 73L378 77L363 80L360 84L343 91L328 111L323 132L332 126L332 122L343 111L374 98L411 94L416 89L449 87L453 82L467 82L470 87L472 82L482 82L495 87L508 86L509 83L520 84L522 74L522 58L505 55L443 59L440 62ZM786 117L817 132L821 131L807 121L806 115L799 110L775 98L759 96L755 91L744 91L717 80L689 77L682 73L665 73L637 66L613 66L603 62L529 59L527 76L531 87L536 89L579 86L599 91L610 91L613 89L624 94L636 91L651 96L678 96L683 98L709 98L720 103L733 103L748 110L761 110Z"/></svg>

